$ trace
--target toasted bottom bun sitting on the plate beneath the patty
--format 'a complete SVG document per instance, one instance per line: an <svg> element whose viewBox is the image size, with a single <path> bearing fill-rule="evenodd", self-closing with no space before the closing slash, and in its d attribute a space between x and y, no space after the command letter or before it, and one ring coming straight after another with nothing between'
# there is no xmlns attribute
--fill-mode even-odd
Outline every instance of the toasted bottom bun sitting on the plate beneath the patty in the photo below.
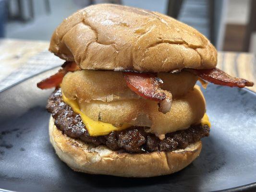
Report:
<svg viewBox="0 0 256 192"><path fill-rule="evenodd" d="M172 152L130 154L112 151L105 145L86 144L63 134L49 120L50 142L57 155L75 171L121 177L154 177L177 172L199 156L201 141Z"/></svg>

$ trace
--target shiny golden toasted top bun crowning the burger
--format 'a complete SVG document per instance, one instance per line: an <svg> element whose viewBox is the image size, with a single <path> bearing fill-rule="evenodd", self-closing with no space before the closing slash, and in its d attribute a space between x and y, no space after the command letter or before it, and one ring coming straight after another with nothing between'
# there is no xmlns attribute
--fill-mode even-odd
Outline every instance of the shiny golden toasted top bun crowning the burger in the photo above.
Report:
<svg viewBox="0 0 256 192"><path fill-rule="evenodd" d="M88 70L170 72L217 63L216 49L194 28L158 12L113 4L92 5L65 19L49 50Z"/></svg>

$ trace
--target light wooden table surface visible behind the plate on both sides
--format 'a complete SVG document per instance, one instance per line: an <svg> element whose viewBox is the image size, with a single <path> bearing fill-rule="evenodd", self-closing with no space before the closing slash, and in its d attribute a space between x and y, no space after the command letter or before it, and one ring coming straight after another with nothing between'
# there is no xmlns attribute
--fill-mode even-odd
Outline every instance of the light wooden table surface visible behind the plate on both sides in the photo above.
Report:
<svg viewBox="0 0 256 192"><path fill-rule="evenodd" d="M63 60L49 53L48 47L46 41L0 39L0 90L61 65ZM217 67L232 76L256 83L256 57L251 53L219 52ZM256 85L248 89L256 92Z"/></svg>

